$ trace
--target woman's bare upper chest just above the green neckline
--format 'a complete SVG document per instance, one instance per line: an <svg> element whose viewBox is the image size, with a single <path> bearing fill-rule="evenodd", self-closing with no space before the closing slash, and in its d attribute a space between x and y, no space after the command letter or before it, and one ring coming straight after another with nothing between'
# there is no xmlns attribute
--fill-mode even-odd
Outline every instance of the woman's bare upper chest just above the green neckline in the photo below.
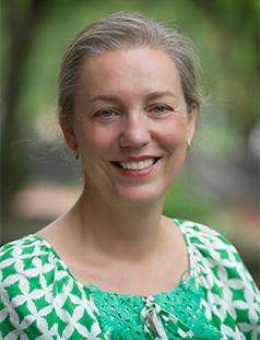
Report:
<svg viewBox="0 0 260 340"><path fill-rule="evenodd" d="M158 256L149 261L104 261L68 263L72 273L83 283L93 283L103 291L119 294L152 295L174 289L189 261L185 249Z"/></svg>

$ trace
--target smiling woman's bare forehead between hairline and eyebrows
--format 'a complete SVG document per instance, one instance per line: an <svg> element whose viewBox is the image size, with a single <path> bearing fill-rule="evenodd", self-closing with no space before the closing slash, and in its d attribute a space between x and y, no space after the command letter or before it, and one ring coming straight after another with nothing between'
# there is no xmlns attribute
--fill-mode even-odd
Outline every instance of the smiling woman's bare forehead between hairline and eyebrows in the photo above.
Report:
<svg viewBox="0 0 260 340"><path fill-rule="evenodd" d="M172 91L182 96L178 71L162 49L139 47L86 58L80 69L78 93L133 94Z"/></svg>

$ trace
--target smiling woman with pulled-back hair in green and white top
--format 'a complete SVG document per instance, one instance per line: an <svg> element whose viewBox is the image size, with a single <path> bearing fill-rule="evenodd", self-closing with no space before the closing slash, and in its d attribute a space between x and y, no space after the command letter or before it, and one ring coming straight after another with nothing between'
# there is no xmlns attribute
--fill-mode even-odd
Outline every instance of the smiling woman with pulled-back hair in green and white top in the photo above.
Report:
<svg viewBox="0 0 260 340"><path fill-rule="evenodd" d="M59 120L84 187L60 219L2 247L3 339L258 339L257 288L236 249L162 215L200 102L176 31L116 13L76 36Z"/></svg>

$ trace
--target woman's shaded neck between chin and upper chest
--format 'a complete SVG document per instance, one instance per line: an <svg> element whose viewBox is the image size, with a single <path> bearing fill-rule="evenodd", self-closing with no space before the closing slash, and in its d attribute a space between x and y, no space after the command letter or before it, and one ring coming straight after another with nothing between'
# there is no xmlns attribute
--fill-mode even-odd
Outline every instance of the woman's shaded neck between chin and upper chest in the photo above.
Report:
<svg viewBox="0 0 260 340"><path fill-rule="evenodd" d="M109 257L134 259L145 257L162 242L163 200L137 207L86 198L83 191L72 209L82 247L93 248ZM164 221L165 222L165 221Z"/></svg>

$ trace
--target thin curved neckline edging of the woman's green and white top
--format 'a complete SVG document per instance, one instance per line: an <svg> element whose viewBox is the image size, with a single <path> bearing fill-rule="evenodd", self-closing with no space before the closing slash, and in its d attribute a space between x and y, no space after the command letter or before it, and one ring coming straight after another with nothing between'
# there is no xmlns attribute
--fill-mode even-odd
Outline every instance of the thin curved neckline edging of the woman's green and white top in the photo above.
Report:
<svg viewBox="0 0 260 340"><path fill-rule="evenodd" d="M145 294L145 295L141 295L141 294L125 294L125 293L117 293L117 292L111 292L111 291L106 291L103 290L101 288L98 288L97 284L93 283L93 282L88 282L88 283L82 283L74 274L73 272L70 270L70 268L67 266L67 263L62 260L62 258L60 257L60 255L56 251L56 249L52 247L52 245L42 235L37 235L37 234L31 234L29 236L33 236L36 239L39 239L43 244L45 244L50 251L54 254L54 256L58 259L58 261L61 263L61 266L64 268L64 270L68 272L68 274L73 279L73 281L75 281L83 290L85 291L95 291L95 292L99 292L103 294L107 294L107 295L113 295L113 296L120 296L120 297L141 297L141 298L147 298L147 297L158 297L158 296L163 296L163 295L169 295L173 294L176 290L180 289L181 286L188 286L190 285L190 283L192 282L192 280L196 279L196 267L194 263L192 261L192 256L191 256L191 249L190 249L190 243L189 239L185 233L185 231L182 230L185 227L185 222L184 220L178 220L178 219L172 219L172 221L174 221L176 223L176 225L179 227L185 244L186 244L186 248L187 248L187 255L188 255L188 268L180 274L179 277L179 281L178 284L176 286L174 286L170 290L164 291L164 292L158 292L155 294ZM185 278L185 275L188 274L187 278Z"/></svg>

